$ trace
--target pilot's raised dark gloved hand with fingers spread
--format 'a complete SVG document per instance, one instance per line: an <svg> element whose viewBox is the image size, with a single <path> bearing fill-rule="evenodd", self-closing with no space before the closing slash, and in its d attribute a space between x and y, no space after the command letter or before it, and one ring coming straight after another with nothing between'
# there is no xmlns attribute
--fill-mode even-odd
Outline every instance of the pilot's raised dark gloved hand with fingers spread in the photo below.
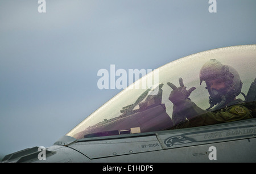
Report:
<svg viewBox="0 0 256 174"><path fill-rule="evenodd" d="M172 88L172 92L169 96L169 100L172 101L174 105L180 105L185 101L186 99L189 99L189 95L193 90L196 89L196 87L192 87L189 90L187 90L187 87L183 84L183 79L179 78L180 87L176 87L174 84L168 82L168 86Z"/></svg>

